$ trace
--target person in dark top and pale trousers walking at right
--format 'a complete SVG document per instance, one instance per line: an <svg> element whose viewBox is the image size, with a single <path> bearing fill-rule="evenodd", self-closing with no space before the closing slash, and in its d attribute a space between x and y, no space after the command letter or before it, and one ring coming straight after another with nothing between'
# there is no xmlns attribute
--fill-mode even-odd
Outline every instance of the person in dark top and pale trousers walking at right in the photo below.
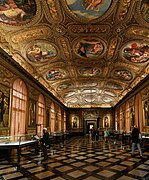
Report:
<svg viewBox="0 0 149 180"><path fill-rule="evenodd" d="M140 146L140 143L139 143L139 129L137 128L137 126L135 125L133 127L133 130L132 130L132 137L131 137L131 140L132 140L132 152L131 152L131 157L134 157L134 152L135 152L135 148L137 146L138 150L139 150L139 153L140 153L140 157L142 157L142 150L141 150L141 146Z"/></svg>

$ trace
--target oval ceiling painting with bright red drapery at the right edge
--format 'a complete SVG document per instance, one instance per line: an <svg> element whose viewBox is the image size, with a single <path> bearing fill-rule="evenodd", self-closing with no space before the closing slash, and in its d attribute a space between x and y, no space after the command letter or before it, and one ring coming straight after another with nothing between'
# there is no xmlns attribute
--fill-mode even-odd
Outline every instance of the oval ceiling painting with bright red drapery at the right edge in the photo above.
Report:
<svg viewBox="0 0 149 180"><path fill-rule="evenodd" d="M149 60L149 43L130 42L122 49L122 57L134 63Z"/></svg>

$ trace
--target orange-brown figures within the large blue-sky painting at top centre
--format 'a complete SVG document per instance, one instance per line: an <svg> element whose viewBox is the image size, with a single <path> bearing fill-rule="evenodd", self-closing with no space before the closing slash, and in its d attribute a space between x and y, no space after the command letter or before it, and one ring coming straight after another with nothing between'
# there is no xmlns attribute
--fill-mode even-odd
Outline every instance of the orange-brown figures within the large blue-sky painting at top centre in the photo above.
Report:
<svg viewBox="0 0 149 180"><path fill-rule="evenodd" d="M104 0L83 0L83 6L86 10L99 11L100 6Z"/></svg>

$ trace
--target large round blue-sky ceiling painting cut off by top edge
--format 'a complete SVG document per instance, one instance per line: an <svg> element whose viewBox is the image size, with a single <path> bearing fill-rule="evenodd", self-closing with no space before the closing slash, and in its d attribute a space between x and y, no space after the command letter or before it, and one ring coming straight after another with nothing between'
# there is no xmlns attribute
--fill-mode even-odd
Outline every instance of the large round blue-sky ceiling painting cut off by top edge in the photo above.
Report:
<svg viewBox="0 0 149 180"><path fill-rule="evenodd" d="M69 9L79 18L93 20L102 16L112 0L66 0Z"/></svg>

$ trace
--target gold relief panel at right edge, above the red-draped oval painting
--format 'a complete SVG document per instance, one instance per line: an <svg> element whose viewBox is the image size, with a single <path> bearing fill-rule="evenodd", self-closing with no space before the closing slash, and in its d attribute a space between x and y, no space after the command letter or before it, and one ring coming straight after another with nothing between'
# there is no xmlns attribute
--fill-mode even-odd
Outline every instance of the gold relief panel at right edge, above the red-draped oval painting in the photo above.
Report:
<svg viewBox="0 0 149 180"><path fill-rule="evenodd" d="M149 38L149 29L138 26L131 26L127 29L127 34L135 38Z"/></svg>

